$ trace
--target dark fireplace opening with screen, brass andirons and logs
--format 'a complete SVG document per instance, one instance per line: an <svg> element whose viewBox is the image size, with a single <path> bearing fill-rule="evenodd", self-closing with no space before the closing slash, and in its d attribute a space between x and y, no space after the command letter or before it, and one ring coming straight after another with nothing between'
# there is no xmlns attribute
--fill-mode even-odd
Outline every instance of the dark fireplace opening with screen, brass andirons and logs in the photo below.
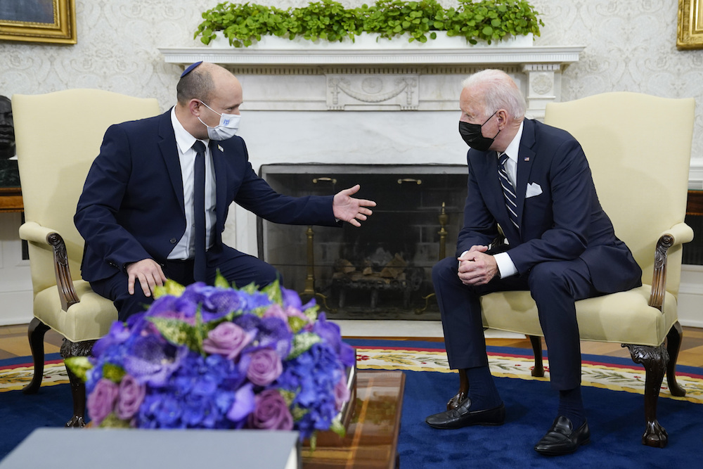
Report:
<svg viewBox="0 0 703 469"><path fill-rule="evenodd" d="M375 200L361 228L258 219L259 257L287 288L316 297L333 319L439 319L432 266L453 255L466 198L464 165L262 165L289 195L332 195L361 184Z"/></svg>

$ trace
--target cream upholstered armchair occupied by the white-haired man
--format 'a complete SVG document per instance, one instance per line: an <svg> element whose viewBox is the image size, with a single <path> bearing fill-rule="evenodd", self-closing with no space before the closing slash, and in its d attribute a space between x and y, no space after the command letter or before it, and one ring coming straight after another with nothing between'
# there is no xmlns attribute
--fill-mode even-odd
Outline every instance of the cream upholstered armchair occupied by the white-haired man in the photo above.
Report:
<svg viewBox="0 0 703 469"><path fill-rule="evenodd" d="M598 197L615 234L643 270L640 288L576 302L581 340L619 342L643 364L646 429L643 444L666 446L657 398L666 372L683 396L675 367L681 345L676 304L681 245L693 238L684 223L695 102L636 93L606 93L550 103L544 122L569 131L583 146ZM531 336L533 375L542 375L537 309L529 292L482 298L484 326Z"/></svg>

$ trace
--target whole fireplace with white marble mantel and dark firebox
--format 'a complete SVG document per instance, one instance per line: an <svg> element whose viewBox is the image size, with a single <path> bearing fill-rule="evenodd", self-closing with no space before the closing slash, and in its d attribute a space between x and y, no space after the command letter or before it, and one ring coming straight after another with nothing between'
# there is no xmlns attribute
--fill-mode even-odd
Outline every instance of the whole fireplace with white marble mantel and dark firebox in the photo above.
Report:
<svg viewBox="0 0 703 469"><path fill-rule="evenodd" d="M541 119L583 46L159 50L169 64L207 60L237 75L250 163L277 191L333 194L359 183L379 204L361 229L269 224L233 205L224 242L258 253L332 317L437 319L430 270L441 250L453 255L463 219L462 80L504 70L527 115Z"/></svg>

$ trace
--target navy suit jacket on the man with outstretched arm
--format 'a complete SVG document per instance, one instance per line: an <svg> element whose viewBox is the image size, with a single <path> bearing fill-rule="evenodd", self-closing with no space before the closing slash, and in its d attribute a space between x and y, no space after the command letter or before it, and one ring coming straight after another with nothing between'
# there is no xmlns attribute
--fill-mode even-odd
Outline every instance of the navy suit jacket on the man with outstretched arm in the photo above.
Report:
<svg viewBox="0 0 703 469"><path fill-rule="evenodd" d="M213 248L221 246L229 205L283 224L335 226L333 196L280 195L259 178L244 140L211 142L217 192ZM98 281L124 264L163 263L186 231L183 179L170 111L105 132L74 218L86 245L82 276ZM211 249L213 249L211 248Z"/></svg>

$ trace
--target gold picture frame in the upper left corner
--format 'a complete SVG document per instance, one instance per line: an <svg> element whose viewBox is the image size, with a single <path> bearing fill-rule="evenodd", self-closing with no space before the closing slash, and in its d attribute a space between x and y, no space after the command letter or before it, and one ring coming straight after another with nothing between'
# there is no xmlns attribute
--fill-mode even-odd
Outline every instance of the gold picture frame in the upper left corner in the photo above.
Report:
<svg viewBox="0 0 703 469"><path fill-rule="evenodd" d="M0 2L0 40L76 44L75 0Z"/></svg>

